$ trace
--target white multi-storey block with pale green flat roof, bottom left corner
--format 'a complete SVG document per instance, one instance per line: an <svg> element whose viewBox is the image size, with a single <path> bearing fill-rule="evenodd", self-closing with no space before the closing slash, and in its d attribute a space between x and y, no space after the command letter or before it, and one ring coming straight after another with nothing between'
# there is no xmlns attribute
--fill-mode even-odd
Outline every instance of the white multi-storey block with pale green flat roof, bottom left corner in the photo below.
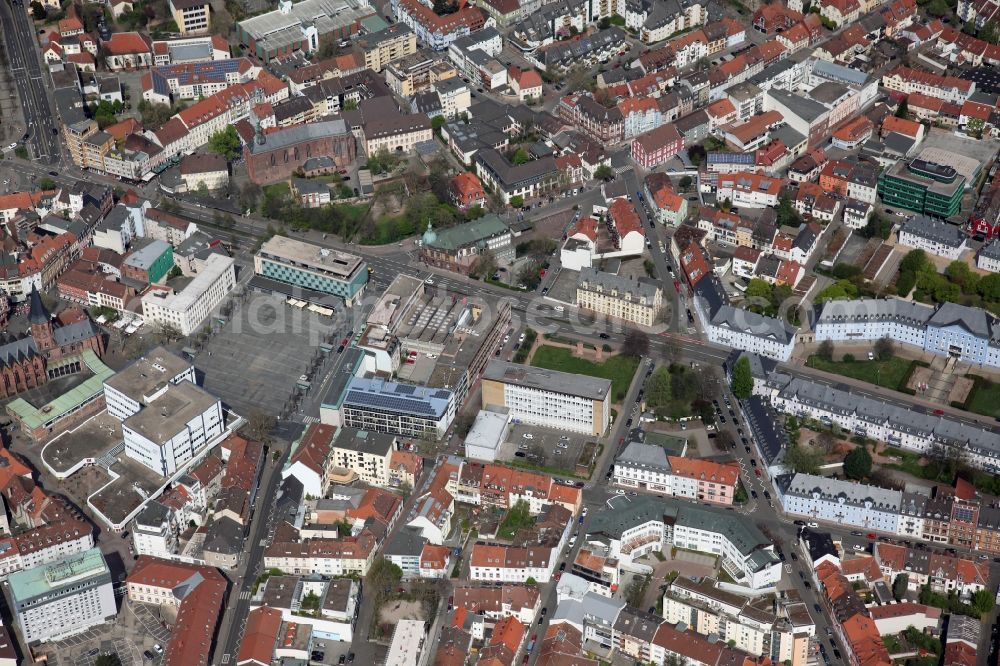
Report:
<svg viewBox="0 0 1000 666"><path fill-rule="evenodd" d="M29 645L73 636L118 614L99 548L13 573L7 582L15 622Z"/></svg>

